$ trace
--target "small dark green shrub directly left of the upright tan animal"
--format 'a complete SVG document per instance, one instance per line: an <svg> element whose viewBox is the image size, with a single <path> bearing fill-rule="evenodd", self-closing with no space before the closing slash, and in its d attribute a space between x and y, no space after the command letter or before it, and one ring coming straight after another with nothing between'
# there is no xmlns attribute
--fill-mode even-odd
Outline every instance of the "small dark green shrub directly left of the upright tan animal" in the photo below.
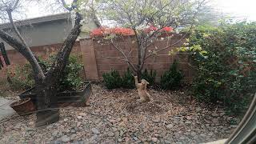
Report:
<svg viewBox="0 0 256 144"><path fill-rule="evenodd" d="M126 70L126 73L122 76L122 88L125 88L125 89L135 88L134 76L132 74L132 71L129 68Z"/></svg>

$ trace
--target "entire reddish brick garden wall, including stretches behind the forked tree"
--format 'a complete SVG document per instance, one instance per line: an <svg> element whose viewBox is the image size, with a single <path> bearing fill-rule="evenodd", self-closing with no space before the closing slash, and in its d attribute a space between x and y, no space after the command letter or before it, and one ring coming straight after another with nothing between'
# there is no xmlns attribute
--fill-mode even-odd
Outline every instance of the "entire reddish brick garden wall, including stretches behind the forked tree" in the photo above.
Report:
<svg viewBox="0 0 256 144"><path fill-rule="evenodd" d="M181 36L175 36L171 38L169 43L168 41L154 42L149 48L149 50L157 50L170 45L170 43L175 43L180 40ZM134 64L137 62L138 50L136 49L136 44L133 42L133 38L126 37L124 39L119 39L117 45L122 48L125 54L128 55L130 61ZM159 81L160 76L170 68L170 65L174 62L174 59L177 59L179 62L179 67L185 74L185 80L190 81L194 75L194 71L188 65L188 56L186 54L175 54L168 55L168 52L174 47L179 47L182 45L182 42L178 42L171 48L163 50L157 56L150 57L145 61L145 68L147 70L157 70L157 81ZM54 44L47 46L34 46L31 47L31 50L38 56L46 57L49 54L56 53L62 44ZM84 64L84 74L88 80L102 80L102 74L109 72L111 69L118 70L120 74L123 74L127 69L126 62L123 62L119 58L122 58L122 54L118 52L111 45L101 45L98 43L98 40L86 38L82 39L79 42L76 42L72 53L82 54L82 62ZM16 50L7 50L7 54L10 58L11 66L14 65L23 65L27 61L21 54ZM6 75L6 68L0 70L0 77L4 78Z"/></svg>

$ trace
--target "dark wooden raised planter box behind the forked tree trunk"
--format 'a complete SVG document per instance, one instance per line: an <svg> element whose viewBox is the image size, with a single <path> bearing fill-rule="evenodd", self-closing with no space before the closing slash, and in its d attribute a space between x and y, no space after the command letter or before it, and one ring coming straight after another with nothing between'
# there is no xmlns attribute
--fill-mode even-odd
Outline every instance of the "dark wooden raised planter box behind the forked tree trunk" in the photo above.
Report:
<svg viewBox="0 0 256 144"><path fill-rule="evenodd" d="M90 82L84 82L84 88L81 91L65 91L57 94L58 106L86 106L86 102L89 101L92 94ZM31 98L34 105L37 105L37 97L34 94L34 87L26 90L22 94L18 95L19 98Z"/></svg>

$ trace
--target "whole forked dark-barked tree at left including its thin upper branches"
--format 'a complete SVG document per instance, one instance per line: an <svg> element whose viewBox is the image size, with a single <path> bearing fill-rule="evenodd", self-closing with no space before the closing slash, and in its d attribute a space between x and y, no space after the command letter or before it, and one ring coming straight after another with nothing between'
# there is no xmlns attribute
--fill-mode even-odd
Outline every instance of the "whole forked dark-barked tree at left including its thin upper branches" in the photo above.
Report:
<svg viewBox="0 0 256 144"><path fill-rule="evenodd" d="M66 7L66 10L70 12L73 10L76 11L74 28L63 42L62 48L58 51L57 57L50 67L50 70L44 71L42 70L42 66L39 65L38 58L36 58L24 38L22 38L22 34L20 34L13 19L13 12L20 8L19 6L22 5L22 2L24 2L24 0L2 0L2 3L0 3L0 16L7 14L10 25L18 36L18 38L14 38L10 34L7 34L6 31L0 30L0 38L15 50L18 50L18 52L30 62L34 71L35 92L38 102L36 126L44 126L58 121L59 111L50 110L50 108L56 107L56 90L59 86L59 80L62 77L62 71L65 69L66 63L68 62L74 42L81 32L80 28L82 25L80 21L82 15L78 13L78 7L76 5L77 0L74 0L71 6L67 6L66 2L62 0L62 5Z"/></svg>

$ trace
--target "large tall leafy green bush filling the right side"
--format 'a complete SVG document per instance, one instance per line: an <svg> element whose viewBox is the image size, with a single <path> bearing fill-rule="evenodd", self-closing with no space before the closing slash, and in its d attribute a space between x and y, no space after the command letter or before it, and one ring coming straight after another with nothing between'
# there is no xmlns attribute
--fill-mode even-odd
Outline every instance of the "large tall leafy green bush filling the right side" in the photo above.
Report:
<svg viewBox="0 0 256 144"><path fill-rule="evenodd" d="M222 102L229 112L245 110L256 90L256 23L200 26L189 38L198 67L193 93L200 102ZM234 63L234 64L230 64Z"/></svg>

